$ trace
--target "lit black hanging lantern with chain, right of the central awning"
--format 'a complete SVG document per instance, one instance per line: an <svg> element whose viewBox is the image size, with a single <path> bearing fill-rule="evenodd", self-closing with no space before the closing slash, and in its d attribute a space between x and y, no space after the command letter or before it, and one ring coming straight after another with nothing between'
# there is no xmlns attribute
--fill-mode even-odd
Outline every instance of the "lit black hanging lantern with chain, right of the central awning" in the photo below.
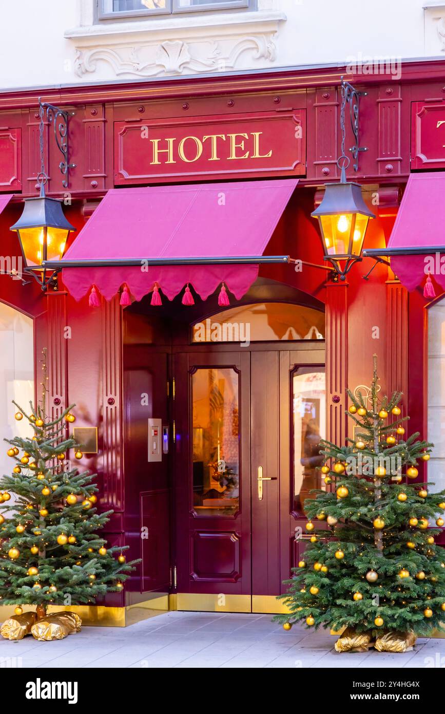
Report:
<svg viewBox="0 0 445 714"><path fill-rule="evenodd" d="M345 280L346 274L352 265L362 260L363 241L368 221L369 218L375 218L374 213L369 211L366 203L364 203L362 188L359 183L347 181L346 178L346 169L350 163L349 157L344 154L346 135L344 109L347 101L349 101L350 94L347 85L347 82L342 82L342 109L340 112L342 155L337 160L337 166L341 169L340 181L325 185L322 202L311 214L314 218L318 218L319 221L324 260L332 263L337 273L339 273L340 280ZM358 96L355 90L354 92Z"/></svg>

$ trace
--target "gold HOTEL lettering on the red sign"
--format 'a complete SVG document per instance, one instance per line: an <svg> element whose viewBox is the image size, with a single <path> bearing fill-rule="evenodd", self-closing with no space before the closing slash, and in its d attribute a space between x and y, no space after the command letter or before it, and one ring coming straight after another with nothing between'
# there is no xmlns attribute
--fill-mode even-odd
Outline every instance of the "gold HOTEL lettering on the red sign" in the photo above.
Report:
<svg viewBox="0 0 445 714"><path fill-rule="evenodd" d="M151 165L176 164L177 160L193 164L205 152L207 161L221 161L222 158L233 160L270 159L272 149L261 154L260 140L262 131L235 134L206 134L202 139L198 136L184 136L176 139L174 136L165 139L150 139L153 155ZM178 144L176 145L176 142ZM210 154L210 156L208 156Z"/></svg>

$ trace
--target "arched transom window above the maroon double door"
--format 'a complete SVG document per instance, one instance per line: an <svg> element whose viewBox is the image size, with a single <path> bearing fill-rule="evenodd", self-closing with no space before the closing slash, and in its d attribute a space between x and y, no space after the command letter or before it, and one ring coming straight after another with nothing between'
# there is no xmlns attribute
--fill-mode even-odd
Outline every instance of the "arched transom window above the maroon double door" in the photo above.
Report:
<svg viewBox="0 0 445 714"><path fill-rule="evenodd" d="M193 325L193 342L324 340L324 313L290 303L230 308Z"/></svg>

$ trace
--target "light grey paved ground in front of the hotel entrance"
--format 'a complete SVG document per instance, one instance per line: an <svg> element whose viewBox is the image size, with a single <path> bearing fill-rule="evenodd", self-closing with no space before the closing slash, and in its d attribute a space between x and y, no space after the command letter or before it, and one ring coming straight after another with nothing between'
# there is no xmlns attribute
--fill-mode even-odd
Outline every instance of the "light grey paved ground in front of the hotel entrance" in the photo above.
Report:
<svg viewBox="0 0 445 714"><path fill-rule="evenodd" d="M445 668L445 639L419 639L404 654L337 653L326 630L271 615L162 613L127 628L83 627L54 642L0 641L0 667L55 668Z"/></svg>

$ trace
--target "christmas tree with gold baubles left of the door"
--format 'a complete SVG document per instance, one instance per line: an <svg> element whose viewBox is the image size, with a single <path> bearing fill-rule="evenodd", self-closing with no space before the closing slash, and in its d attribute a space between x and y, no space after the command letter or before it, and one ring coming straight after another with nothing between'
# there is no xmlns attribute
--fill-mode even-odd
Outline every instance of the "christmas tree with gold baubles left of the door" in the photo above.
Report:
<svg viewBox="0 0 445 714"><path fill-rule="evenodd" d="M106 548L97 535L113 511L98 513L94 476L71 468L68 451L82 458L67 427L76 420L71 410L52 421L46 415L46 351L43 397L27 413L15 404L17 421L26 419L29 438L15 437L8 456L12 476L0 478L0 596L1 604L37 605L44 615L48 605L94 603L98 596L123 589L133 563L125 548ZM15 495L15 502L5 505ZM116 554L118 557L116 558Z"/></svg>

